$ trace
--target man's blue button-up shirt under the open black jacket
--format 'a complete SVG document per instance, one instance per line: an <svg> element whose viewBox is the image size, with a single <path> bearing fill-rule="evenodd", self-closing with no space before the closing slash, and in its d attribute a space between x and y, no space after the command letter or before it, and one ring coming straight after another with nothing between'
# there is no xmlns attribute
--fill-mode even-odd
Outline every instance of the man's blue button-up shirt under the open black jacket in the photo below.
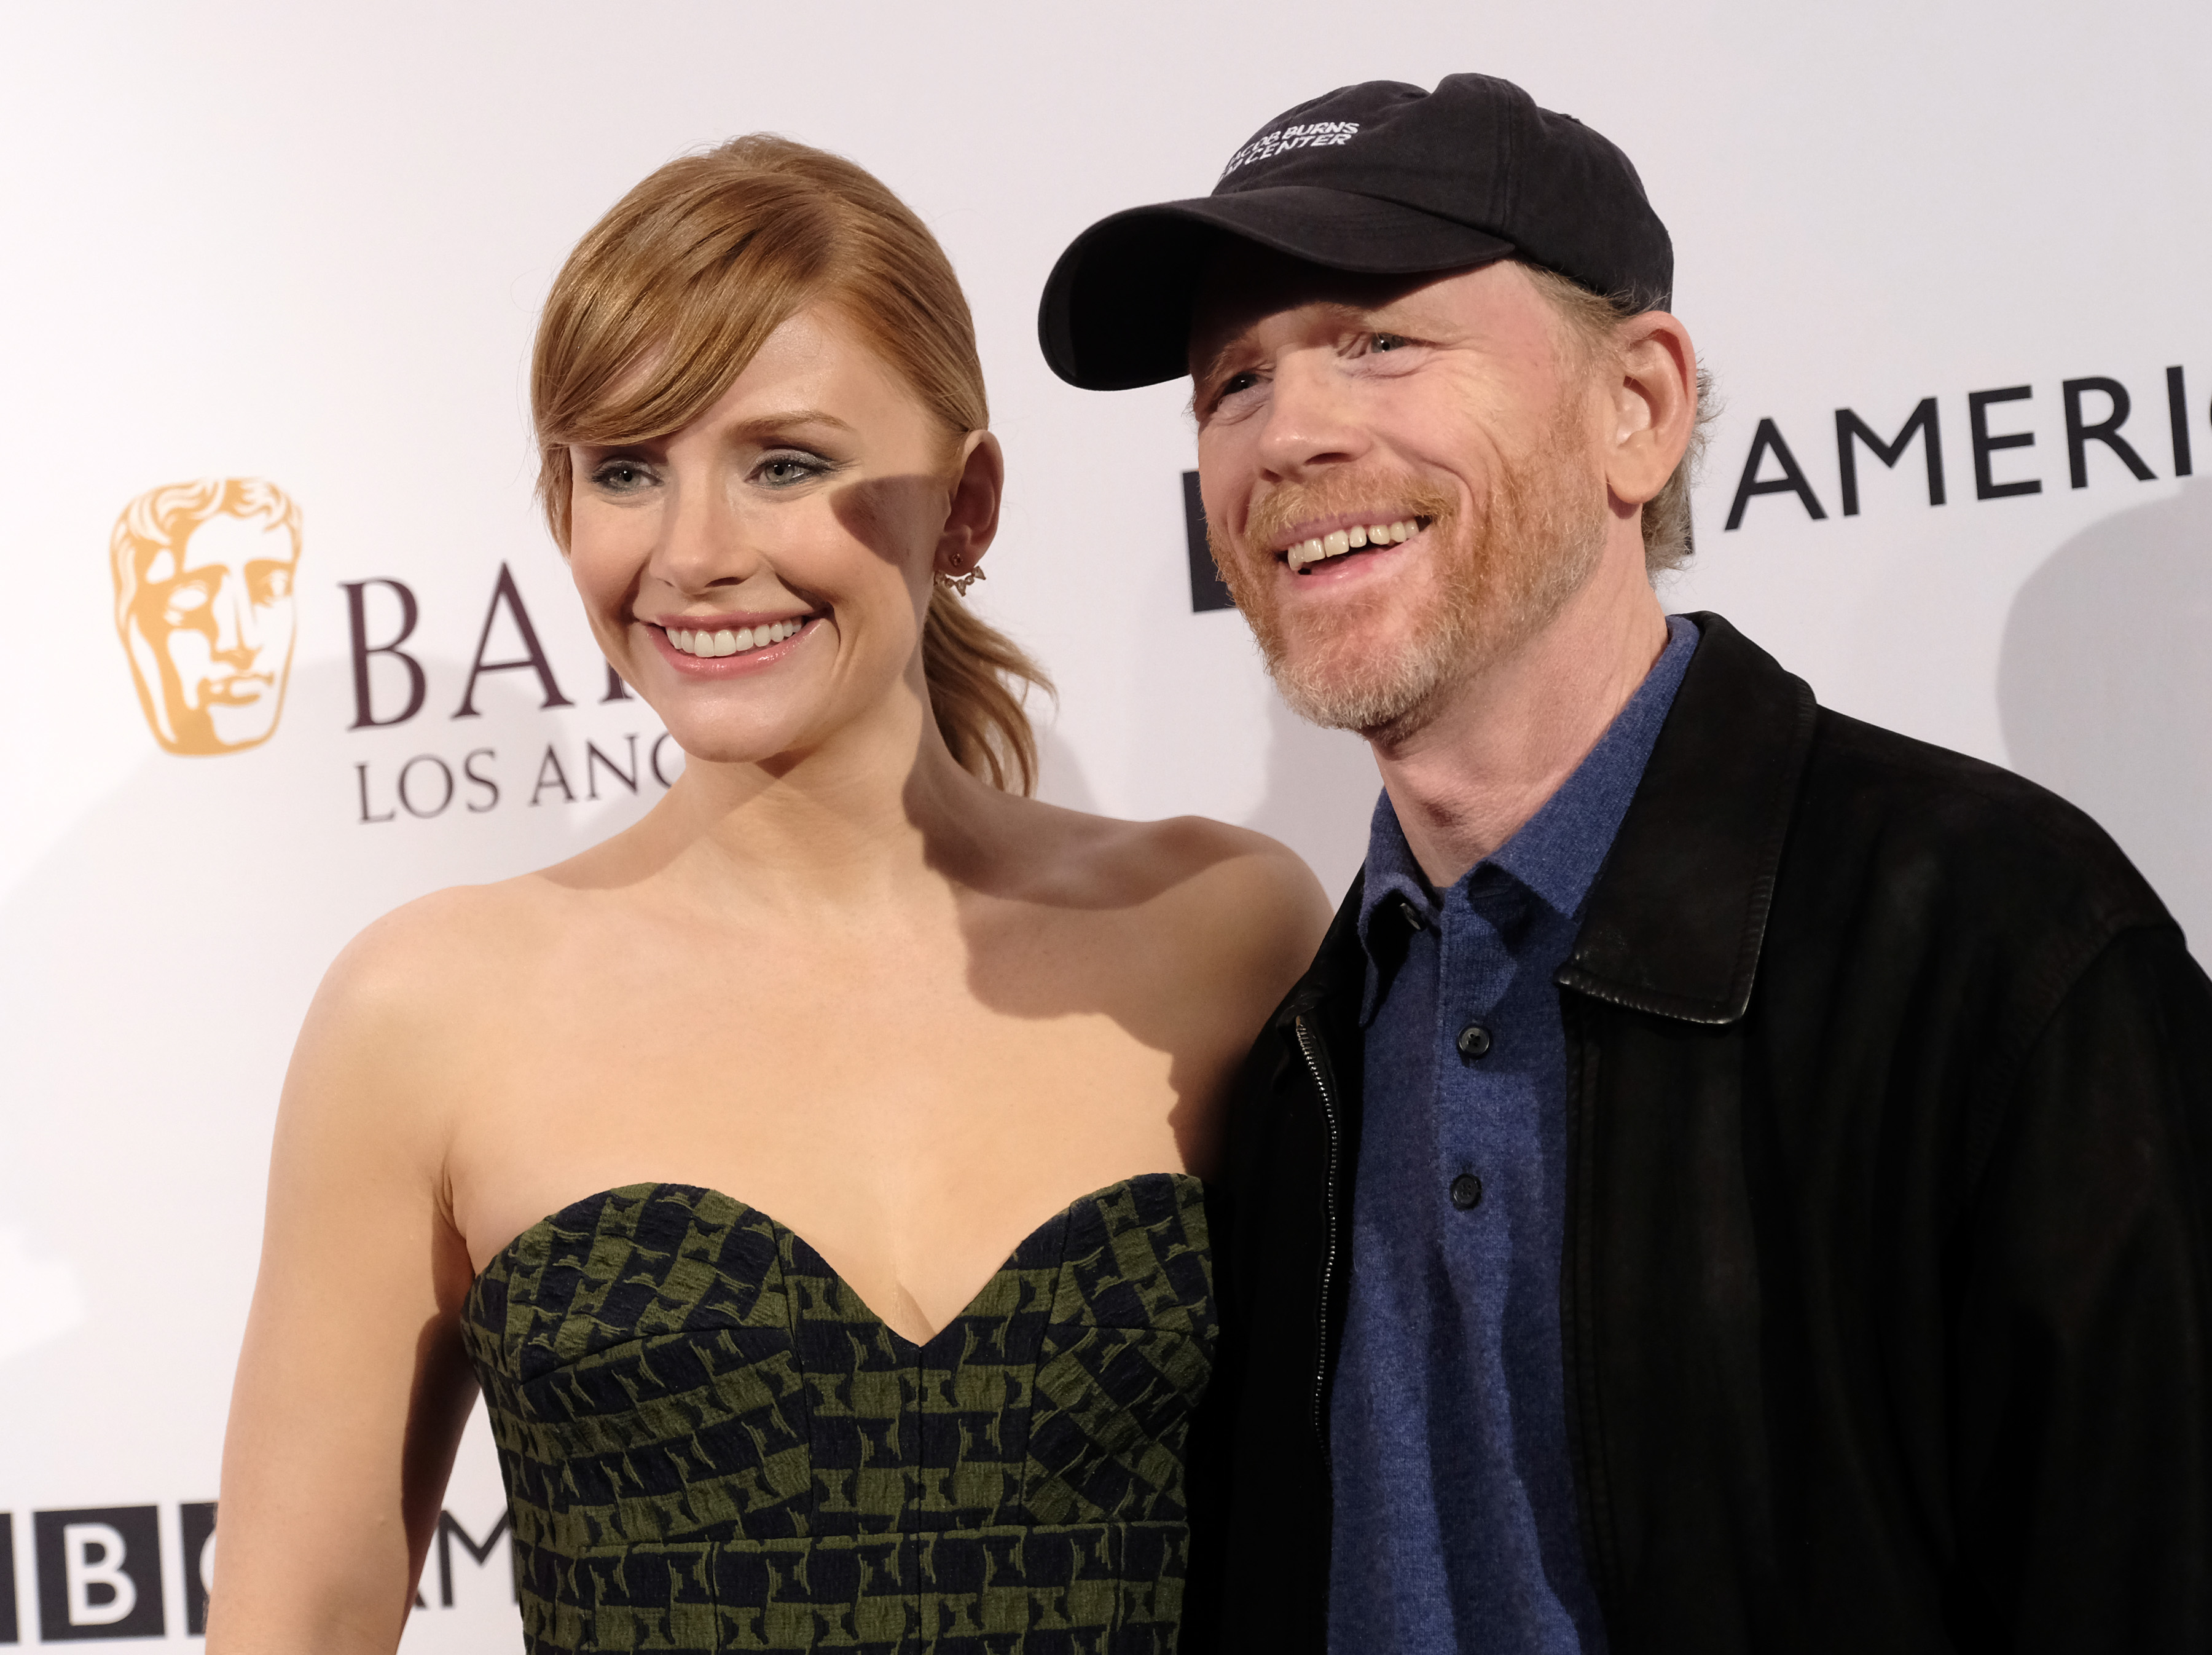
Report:
<svg viewBox="0 0 2212 1655"><path fill-rule="evenodd" d="M1582 766L1449 892L1429 889L1389 794L1376 803L1352 1299L1329 1401L1336 1655L1604 1651L1566 1447L1553 974L1694 648L1697 626L1670 617ZM1462 1055L1469 1024L1489 1035L1480 1055Z"/></svg>

